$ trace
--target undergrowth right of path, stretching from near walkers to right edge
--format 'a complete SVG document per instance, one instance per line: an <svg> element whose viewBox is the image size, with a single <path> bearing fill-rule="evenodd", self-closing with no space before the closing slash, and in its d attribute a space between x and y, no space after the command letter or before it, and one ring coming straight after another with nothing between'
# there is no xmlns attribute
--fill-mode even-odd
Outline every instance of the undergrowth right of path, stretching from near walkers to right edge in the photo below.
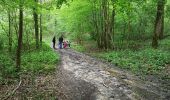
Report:
<svg viewBox="0 0 170 100"><path fill-rule="evenodd" d="M90 42L88 41L88 43ZM119 43L115 42L115 44ZM131 41L122 43L121 47L117 48L119 49L106 52L94 51L82 45L73 46L73 49L79 52L89 52L115 64L117 67L130 70L139 75L162 74L170 65L170 38L160 40L158 49L151 48L151 41ZM169 72L164 73L163 76L170 78Z"/></svg>

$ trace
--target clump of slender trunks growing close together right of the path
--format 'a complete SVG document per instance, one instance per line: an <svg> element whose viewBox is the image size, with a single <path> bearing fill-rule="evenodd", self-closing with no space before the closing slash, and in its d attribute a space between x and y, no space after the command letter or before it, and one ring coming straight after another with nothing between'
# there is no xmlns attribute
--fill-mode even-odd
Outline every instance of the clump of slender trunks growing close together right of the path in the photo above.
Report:
<svg viewBox="0 0 170 100"><path fill-rule="evenodd" d="M95 28L94 32L96 33L95 36L98 48L112 49L115 17L114 8L112 15L110 15L109 0L100 1L94 0L92 3L93 3L92 21Z"/></svg>

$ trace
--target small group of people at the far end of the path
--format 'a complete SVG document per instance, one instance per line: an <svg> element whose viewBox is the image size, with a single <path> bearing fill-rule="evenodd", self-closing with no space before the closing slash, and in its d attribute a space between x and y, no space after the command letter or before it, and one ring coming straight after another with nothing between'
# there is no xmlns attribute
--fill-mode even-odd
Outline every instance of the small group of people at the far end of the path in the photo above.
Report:
<svg viewBox="0 0 170 100"><path fill-rule="evenodd" d="M53 48L56 49L55 45L56 45L56 36L53 37ZM63 39L63 35L61 35L58 39L58 48L62 49L62 48L70 48L70 42L66 41Z"/></svg>

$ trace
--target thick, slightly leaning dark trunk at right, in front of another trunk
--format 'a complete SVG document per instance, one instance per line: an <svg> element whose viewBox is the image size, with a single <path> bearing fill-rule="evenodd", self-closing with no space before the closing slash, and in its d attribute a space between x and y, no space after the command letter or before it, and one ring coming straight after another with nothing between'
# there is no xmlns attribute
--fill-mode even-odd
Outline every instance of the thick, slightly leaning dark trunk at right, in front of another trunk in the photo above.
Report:
<svg viewBox="0 0 170 100"><path fill-rule="evenodd" d="M158 47L159 36L163 36L163 11L164 11L164 0L159 0L157 5L157 15L155 20L154 35L152 40L152 47ZM162 32L162 33L161 33Z"/></svg>

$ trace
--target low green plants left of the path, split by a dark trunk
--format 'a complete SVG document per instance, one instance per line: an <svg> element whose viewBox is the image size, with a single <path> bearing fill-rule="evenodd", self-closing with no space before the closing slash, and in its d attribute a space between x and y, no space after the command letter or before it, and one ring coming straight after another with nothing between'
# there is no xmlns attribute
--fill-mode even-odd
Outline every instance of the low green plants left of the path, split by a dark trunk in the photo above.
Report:
<svg viewBox="0 0 170 100"><path fill-rule="evenodd" d="M5 84L18 73L15 70L15 60L5 52L0 54L0 84ZM48 45L43 44L39 50L26 51L22 54L21 73L48 74L55 71L59 55Z"/></svg>

